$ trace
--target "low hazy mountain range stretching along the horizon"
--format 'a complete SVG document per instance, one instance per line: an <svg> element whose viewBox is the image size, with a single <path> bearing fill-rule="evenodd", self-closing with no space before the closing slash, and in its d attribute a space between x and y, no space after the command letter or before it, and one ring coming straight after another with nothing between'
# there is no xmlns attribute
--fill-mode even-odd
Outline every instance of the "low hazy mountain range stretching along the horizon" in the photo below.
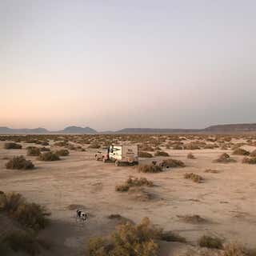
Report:
<svg viewBox="0 0 256 256"><path fill-rule="evenodd" d="M204 129L154 129L125 128L98 132L90 127L68 126L64 130L50 131L45 128L11 129L0 127L0 134L244 134L256 133L256 123L209 126Z"/></svg>

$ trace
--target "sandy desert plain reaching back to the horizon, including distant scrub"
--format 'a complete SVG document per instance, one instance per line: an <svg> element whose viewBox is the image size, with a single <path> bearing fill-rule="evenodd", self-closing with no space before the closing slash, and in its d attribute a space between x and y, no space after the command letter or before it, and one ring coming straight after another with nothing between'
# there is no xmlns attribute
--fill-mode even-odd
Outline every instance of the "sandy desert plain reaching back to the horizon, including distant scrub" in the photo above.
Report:
<svg viewBox="0 0 256 256"><path fill-rule="evenodd" d="M2 135L1 138L0 190L20 193L50 211L50 225L40 231L39 237L50 240L52 247L42 255L85 255L90 238L110 234L118 225L118 219L109 218L111 214L120 214L134 223L148 217L163 230L186 238L186 243L160 242L161 256L186 255L188 251L199 255L198 238L204 234L223 242L239 242L247 248L255 246L256 166L242 163L245 156L233 154L235 148L253 152L254 135ZM66 148L70 154L51 162L27 156L27 146L40 146L37 141L31 142L31 138L47 141L46 147L52 151ZM6 142L14 141L22 149L4 148ZM112 142L137 143L143 152L147 151L146 146L152 147L153 151L147 152L153 157L139 158L140 165L174 158L184 162L185 167L141 173L138 166L95 161L98 147ZM157 151L169 156L154 156ZM189 153L194 159L187 158ZM214 162L223 153L235 162ZM6 169L6 162L18 155L31 160L34 169ZM186 173L200 175L202 182L184 178ZM115 187L130 176L146 178L154 186L133 193L116 191ZM88 214L86 222L76 220L77 209ZM194 215L200 219L189 218ZM0 226L0 235L4 235L15 229L16 223L0 213Z"/></svg>

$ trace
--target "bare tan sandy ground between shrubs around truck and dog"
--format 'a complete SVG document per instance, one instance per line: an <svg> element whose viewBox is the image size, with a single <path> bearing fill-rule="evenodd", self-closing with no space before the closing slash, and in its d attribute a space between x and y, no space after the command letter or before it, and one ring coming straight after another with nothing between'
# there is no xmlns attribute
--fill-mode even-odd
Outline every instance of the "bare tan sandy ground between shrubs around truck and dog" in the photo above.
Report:
<svg viewBox="0 0 256 256"><path fill-rule="evenodd" d="M202 234L214 234L226 241L254 247L256 166L242 164L240 156L234 156L238 162L218 164L212 161L223 150L193 150L195 160L186 158L191 150L166 150L172 158L185 162L186 167L140 174L134 166L96 162L95 150L70 151L70 156L57 162L26 157L34 162L36 169L20 171L6 170L8 160L3 158L26 155L25 147L31 144L22 143L22 150L4 150L3 144L0 142L0 190L22 193L29 201L50 210L52 223L40 235L54 242L53 255L82 254L90 237L108 234L114 229L117 223L107 218L109 214L121 214L134 222L147 216L165 230L177 231L191 245L195 245ZM141 162L149 161L152 158L141 159ZM205 173L209 168L219 173ZM200 174L205 181L198 184L184 179L186 172ZM116 192L114 187L130 175L152 180L156 186L146 190L154 194L154 198L142 202L127 193ZM84 206L90 214L86 224L76 222L75 210L67 208L70 204ZM177 215L184 214L199 214L207 222L182 222ZM174 255L170 247L170 243L162 243L161 255Z"/></svg>

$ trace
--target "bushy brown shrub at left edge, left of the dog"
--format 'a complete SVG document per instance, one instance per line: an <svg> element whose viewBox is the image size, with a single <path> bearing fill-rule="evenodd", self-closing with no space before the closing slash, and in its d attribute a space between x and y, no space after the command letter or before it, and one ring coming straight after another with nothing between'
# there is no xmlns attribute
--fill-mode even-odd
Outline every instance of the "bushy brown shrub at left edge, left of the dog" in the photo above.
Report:
<svg viewBox="0 0 256 256"><path fill-rule="evenodd" d="M49 213L46 208L34 202L26 202L21 194L1 194L0 211L6 212L10 218L32 230L41 230L48 224L46 216Z"/></svg>

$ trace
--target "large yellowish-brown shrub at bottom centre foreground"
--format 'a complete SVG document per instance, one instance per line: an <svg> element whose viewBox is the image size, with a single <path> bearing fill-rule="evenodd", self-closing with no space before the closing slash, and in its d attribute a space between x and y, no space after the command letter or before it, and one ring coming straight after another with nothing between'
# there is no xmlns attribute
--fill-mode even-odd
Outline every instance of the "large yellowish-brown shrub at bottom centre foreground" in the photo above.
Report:
<svg viewBox="0 0 256 256"><path fill-rule="evenodd" d="M149 218L138 225L122 224L108 237L90 238L87 254L90 256L157 256L159 240L186 242L178 234L163 232L153 226Z"/></svg>

